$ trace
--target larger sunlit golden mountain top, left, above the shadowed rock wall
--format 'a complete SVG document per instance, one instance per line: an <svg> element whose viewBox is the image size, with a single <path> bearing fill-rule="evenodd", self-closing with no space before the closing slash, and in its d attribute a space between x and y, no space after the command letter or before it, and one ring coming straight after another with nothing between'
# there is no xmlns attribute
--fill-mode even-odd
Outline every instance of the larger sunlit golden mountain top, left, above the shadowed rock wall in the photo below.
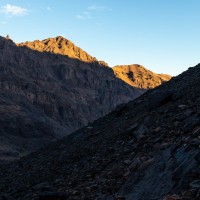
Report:
<svg viewBox="0 0 200 200"><path fill-rule="evenodd" d="M76 58L84 62L100 62L101 65L108 66L103 61L97 61L95 57L90 56L81 48L75 46L70 40L58 36L56 38L48 38L45 40L35 40L33 42L19 43L18 46L25 46L40 52L50 52Z"/></svg>

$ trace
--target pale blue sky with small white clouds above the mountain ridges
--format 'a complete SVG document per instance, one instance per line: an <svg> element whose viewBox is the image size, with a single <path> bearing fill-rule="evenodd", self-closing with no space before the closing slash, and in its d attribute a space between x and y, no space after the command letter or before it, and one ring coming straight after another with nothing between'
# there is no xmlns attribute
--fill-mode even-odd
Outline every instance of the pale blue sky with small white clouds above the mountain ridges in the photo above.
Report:
<svg viewBox="0 0 200 200"><path fill-rule="evenodd" d="M62 35L110 66L178 75L200 62L200 0L1 0L0 35Z"/></svg>

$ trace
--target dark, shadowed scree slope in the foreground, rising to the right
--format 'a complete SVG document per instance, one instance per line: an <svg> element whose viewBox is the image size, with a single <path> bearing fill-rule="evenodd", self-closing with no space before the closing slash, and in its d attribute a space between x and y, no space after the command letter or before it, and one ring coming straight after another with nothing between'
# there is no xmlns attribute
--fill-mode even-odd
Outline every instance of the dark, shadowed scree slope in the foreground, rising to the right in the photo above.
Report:
<svg viewBox="0 0 200 200"><path fill-rule="evenodd" d="M1 199L199 199L199 76L200 65L2 167Z"/></svg>

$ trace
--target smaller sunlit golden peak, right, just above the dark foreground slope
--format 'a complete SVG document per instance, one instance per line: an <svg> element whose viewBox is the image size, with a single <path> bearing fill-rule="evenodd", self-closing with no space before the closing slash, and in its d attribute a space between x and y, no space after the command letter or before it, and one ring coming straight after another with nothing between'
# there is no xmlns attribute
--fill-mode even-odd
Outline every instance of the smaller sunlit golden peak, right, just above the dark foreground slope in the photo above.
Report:
<svg viewBox="0 0 200 200"><path fill-rule="evenodd" d="M112 69L117 78L143 89L155 88L172 78L167 74L156 74L141 65L117 65Z"/></svg>

